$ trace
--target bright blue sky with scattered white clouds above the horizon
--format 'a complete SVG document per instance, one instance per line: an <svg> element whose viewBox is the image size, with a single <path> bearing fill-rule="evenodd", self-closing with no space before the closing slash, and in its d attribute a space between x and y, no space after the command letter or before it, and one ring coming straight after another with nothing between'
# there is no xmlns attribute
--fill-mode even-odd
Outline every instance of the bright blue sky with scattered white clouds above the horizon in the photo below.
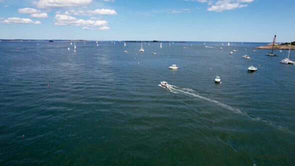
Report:
<svg viewBox="0 0 295 166"><path fill-rule="evenodd" d="M0 38L295 40L294 0L0 0ZM289 16L288 16L289 15Z"/></svg>

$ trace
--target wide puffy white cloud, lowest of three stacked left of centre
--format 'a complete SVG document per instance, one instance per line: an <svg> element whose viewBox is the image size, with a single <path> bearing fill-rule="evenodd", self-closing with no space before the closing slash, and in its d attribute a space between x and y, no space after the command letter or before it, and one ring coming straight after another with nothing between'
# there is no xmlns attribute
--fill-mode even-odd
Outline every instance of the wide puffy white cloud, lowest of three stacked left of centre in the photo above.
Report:
<svg viewBox="0 0 295 166"><path fill-rule="evenodd" d="M55 25L74 25L74 26L105 26L107 21L105 20L93 20L93 19L77 19L76 17L64 14L55 15Z"/></svg>

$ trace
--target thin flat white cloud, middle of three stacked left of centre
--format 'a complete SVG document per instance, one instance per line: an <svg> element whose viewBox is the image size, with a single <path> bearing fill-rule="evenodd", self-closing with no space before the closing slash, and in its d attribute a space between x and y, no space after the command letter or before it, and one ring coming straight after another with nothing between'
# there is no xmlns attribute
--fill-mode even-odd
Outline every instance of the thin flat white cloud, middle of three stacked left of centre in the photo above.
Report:
<svg viewBox="0 0 295 166"><path fill-rule="evenodd" d="M117 12L115 10L112 9L105 9L105 8L101 8L101 9L95 9L95 10L68 10L65 11L64 14L66 15L93 15L93 14L97 14L97 15L116 15Z"/></svg>

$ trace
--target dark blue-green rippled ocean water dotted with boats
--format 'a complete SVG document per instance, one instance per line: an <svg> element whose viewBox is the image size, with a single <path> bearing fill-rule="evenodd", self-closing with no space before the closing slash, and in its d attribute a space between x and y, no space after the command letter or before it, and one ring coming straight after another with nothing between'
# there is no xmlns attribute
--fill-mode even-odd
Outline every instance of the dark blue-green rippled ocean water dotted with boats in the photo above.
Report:
<svg viewBox="0 0 295 166"><path fill-rule="evenodd" d="M0 42L0 165L294 165L287 50L98 44Z"/></svg>

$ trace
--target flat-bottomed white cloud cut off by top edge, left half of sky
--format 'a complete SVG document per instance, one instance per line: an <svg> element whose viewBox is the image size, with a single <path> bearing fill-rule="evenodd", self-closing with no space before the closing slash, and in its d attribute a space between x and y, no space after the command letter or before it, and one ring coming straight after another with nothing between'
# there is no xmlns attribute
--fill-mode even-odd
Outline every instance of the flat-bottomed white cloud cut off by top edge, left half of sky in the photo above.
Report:
<svg viewBox="0 0 295 166"><path fill-rule="evenodd" d="M39 0L33 1L39 8L81 7L88 5L92 0Z"/></svg>

